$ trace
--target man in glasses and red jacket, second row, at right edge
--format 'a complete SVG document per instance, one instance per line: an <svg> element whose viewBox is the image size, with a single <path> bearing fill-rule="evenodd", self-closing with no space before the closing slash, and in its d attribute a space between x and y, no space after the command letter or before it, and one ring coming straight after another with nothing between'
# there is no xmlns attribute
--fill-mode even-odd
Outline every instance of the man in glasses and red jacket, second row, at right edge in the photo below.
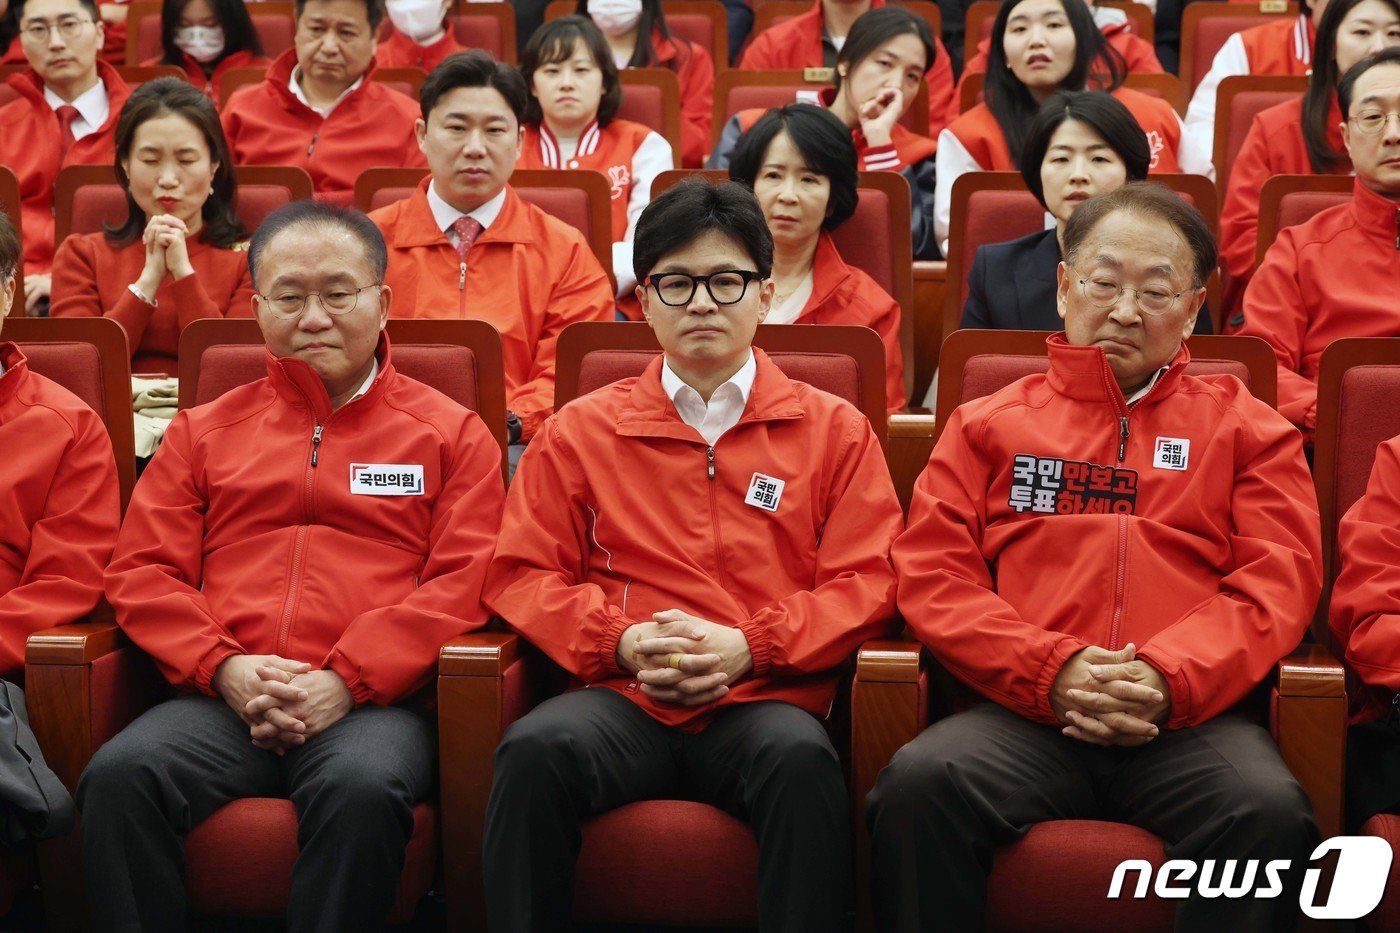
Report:
<svg viewBox="0 0 1400 933"><path fill-rule="evenodd" d="M1354 64L1337 101L1357 172L1351 202L1278 231L1245 291L1240 329L1274 347L1278 410L1309 437L1327 345L1400 336L1400 48Z"/></svg>

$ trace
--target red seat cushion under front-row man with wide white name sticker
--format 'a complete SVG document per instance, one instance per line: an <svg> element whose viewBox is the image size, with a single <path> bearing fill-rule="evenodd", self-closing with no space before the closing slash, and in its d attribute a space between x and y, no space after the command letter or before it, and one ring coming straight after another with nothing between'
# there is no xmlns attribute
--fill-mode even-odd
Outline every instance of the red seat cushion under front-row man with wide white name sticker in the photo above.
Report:
<svg viewBox="0 0 1400 933"><path fill-rule="evenodd" d="M237 853L237 855L234 855ZM267 916L287 912L297 860L297 813L290 800L246 797L216 811L185 838L185 891L193 913ZM413 918L437 871L437 810L413 808L391 923Z"/></svg>

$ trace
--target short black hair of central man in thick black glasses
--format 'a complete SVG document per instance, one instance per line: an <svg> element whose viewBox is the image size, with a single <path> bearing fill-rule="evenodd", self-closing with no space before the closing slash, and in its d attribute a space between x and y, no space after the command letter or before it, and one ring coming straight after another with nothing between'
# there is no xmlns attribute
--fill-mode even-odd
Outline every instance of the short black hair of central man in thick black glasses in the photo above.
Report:
<svg viewBox="0 0 1400 933"><path fill-rule="evenodd" d="M710 231L743 247L760 276L773 275L773 234L753 192L739 182L687 178L652 198L637 220L631 248L637 282L645 282L662 256Z"/></svg>

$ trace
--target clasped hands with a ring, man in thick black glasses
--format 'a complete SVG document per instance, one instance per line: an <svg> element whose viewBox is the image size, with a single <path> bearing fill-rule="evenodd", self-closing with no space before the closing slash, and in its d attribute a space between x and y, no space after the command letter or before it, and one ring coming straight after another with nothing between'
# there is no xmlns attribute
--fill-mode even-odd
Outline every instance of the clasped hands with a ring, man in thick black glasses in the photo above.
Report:
<svg viewBox="0 0 1400 933"><path fill-rule="evenodd" d="M704 706L729 692L753 668L743 632L666 609L627 626L617 640L617 667L637 675L658 703Z"/></svg>

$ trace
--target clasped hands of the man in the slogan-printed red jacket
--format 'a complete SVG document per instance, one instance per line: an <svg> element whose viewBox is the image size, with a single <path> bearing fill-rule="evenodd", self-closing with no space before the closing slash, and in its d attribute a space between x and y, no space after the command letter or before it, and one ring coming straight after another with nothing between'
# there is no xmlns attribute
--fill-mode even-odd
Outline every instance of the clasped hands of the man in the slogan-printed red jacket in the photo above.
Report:
<svg viewBox="0 0 1400 933"><path fill-rule="evenodd" d="M1091 646L1077 653L1050 685L1050 706L1070 738L1091 745L1145 745L1172 712L1166 678L1137 658Z"/></svg>

